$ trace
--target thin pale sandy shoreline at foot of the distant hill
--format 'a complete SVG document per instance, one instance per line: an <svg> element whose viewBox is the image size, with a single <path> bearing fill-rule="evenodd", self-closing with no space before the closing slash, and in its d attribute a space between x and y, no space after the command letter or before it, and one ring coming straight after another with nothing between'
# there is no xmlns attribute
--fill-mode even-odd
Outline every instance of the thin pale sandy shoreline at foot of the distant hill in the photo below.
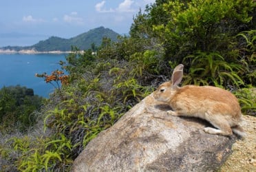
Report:
<svg viewBox="0 0 256 172"><path fill-rule="evenodd" d="M0 54L70 54L71 51L68 52L62 52L62 51L49 51L49 52L38 52L36 50L1 50Z"/></svg>

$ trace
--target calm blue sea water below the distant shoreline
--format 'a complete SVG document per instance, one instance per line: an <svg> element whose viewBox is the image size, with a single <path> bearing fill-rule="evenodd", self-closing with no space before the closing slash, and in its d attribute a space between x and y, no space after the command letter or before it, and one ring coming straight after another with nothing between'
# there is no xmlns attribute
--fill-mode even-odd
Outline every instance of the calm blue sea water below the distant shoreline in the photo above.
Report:
<svg viewBox="0 0 256 172"><path fill-rule="evenodd" d="M65 54L0 54L0 87L21 85L48 98L54 87L35 74L61 69L59 61L65 61Z"/></svg>

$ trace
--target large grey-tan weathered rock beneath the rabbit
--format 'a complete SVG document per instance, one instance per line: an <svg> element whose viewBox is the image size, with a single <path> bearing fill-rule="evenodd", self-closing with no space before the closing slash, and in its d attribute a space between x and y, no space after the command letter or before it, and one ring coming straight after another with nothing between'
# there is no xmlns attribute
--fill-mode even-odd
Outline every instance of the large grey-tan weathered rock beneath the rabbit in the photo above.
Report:
<svg viewBox="0 0 256 172"><path fill-rule="evenodd" d="M76 158L72 171L214 171L236 137L211 135L208 122L169 116L152 95L99 133Z"/></svg>

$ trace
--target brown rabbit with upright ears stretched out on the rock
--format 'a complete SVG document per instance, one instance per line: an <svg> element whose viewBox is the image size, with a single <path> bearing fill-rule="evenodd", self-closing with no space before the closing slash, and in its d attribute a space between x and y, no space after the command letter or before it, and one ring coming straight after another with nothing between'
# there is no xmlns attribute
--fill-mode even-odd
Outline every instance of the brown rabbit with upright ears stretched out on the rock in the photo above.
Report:
<svg viewBox="0 0 256 172"><path fill-rule="evenodd" d="M242 112L237 98L231 92L218 87L178 87L182 80L183 67L182 64L175 67L171 80L160 85L153 93L153 97L169 104L173 111L167 112L172 116L202 118L217 128L206 127L206 133L231 136L234 132L239 136L246 136L242 127L239 127Z"/></svg>

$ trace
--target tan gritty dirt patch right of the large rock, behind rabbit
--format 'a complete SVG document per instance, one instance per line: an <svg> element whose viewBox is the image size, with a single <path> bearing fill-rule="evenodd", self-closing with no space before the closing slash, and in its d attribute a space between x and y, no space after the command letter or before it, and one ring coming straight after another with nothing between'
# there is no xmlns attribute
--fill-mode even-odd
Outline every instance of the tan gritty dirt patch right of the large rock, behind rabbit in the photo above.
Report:
<svg viewBox="0 0 256 172"><path fill-rule="evenodd" d="M233 153L220 169L221 172L256 172L256 117L244 116L242 127L247 136L233 144Z"/></svg>

